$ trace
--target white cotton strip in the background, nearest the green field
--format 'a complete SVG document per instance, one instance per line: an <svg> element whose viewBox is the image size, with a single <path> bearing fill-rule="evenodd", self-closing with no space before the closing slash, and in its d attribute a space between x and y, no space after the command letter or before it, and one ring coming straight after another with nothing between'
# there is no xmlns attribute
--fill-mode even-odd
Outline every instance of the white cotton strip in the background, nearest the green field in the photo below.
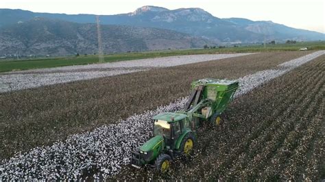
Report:
<svg viewBox="0 0 325 182"><path fill-rule="evenodd" d="M0 92L10 92L13 90L36 88L40 86L49 86L58 83L67 83L71 81L94 79L99 77L109 77L112 75L121 75L125 73L147 70L149 68L170 67L197 62L206 62L210 60L221 60L228 57L237 57L249 54L251 53L182 55L104 64L23 70L0 75ZM103 71L103 69L108 70Z"/></svg>

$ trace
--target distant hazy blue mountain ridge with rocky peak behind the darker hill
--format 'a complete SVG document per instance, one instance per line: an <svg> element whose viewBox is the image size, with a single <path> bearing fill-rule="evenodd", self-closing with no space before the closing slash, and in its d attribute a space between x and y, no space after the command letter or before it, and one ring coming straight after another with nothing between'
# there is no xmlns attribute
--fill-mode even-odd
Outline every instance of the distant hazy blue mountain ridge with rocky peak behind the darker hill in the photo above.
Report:
<svg viewBox="0 0 325 182"><path fill-rule="evenodd" d="M0 9L0 27L29 21L34 17L47 17L75 23L95 23L95 14L50 14L24 10ZM143 6L134 12L101 15L104 25L132 25L156 27L180 31L192 36L209 38L217 42L263 42L263 40L311 41L325 40L322 33L295 29L272 21L250 21L244 18L217 18L200 8L168 10L155 6Z"/></svg>

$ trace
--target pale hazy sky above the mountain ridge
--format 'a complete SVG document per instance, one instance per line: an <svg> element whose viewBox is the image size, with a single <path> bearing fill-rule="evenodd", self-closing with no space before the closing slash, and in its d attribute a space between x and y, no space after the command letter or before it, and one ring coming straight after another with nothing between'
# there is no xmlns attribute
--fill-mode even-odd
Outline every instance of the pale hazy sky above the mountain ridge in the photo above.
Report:
<svg viewBox="0 0 325 182"><path fill-rule="evenodd" d="M219 18L273 21L325 33L325 0L0 0L0 8L66 14L120 14L143 5L202 8Z"/></svg>

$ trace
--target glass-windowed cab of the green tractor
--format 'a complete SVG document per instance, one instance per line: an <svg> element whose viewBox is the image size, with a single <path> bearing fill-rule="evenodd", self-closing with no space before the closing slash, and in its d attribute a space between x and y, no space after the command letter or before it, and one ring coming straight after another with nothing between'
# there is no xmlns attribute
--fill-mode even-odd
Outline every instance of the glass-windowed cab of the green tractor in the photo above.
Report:
<svg viewBox="0 0 325 182"><path fill-rule="evenodd" d="M186 114L165 112L154 116L154 135L161 135L167 148L175 148L176 140L185 131L188 121Z"/></svg>

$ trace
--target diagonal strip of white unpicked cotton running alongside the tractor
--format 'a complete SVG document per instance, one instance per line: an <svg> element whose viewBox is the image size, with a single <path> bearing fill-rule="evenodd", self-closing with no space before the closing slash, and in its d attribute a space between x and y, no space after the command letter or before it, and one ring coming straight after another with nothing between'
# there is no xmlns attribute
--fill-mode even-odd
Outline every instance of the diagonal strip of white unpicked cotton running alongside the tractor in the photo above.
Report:
<svg viewBox="0 0 325 182"><path fill-rule="evenodd" d="M304 60L307 62L322 54L324 52L318 51L307 55ZM300 58L296 59L296 62L299 61L301 61ZM285 70L288 71L295 67L296 65L293 64ZM248 88L241 88L239 93L243 94L258 86L255 83L256 80L261 84L264 83L261 80L269 81L285 71L282 67L275 70L263 72L265 73L263 77L260 77L261 73L256 73L241 78L245 83L244 86ZM267 73L269 74L267 75ZM118 125L108 125L89 133L72 135L64 142L58 142L53 146L35 148L23 155L17 155L8 161L2 161L0 174L3 174L3 179L109 177L119 172L121 165L128 164L130 152L152 135L152 116L160 112L180 109L185 102L186 99L182 99L166 107L159 107L154 111L134 115L121 121Z"/></svg>

